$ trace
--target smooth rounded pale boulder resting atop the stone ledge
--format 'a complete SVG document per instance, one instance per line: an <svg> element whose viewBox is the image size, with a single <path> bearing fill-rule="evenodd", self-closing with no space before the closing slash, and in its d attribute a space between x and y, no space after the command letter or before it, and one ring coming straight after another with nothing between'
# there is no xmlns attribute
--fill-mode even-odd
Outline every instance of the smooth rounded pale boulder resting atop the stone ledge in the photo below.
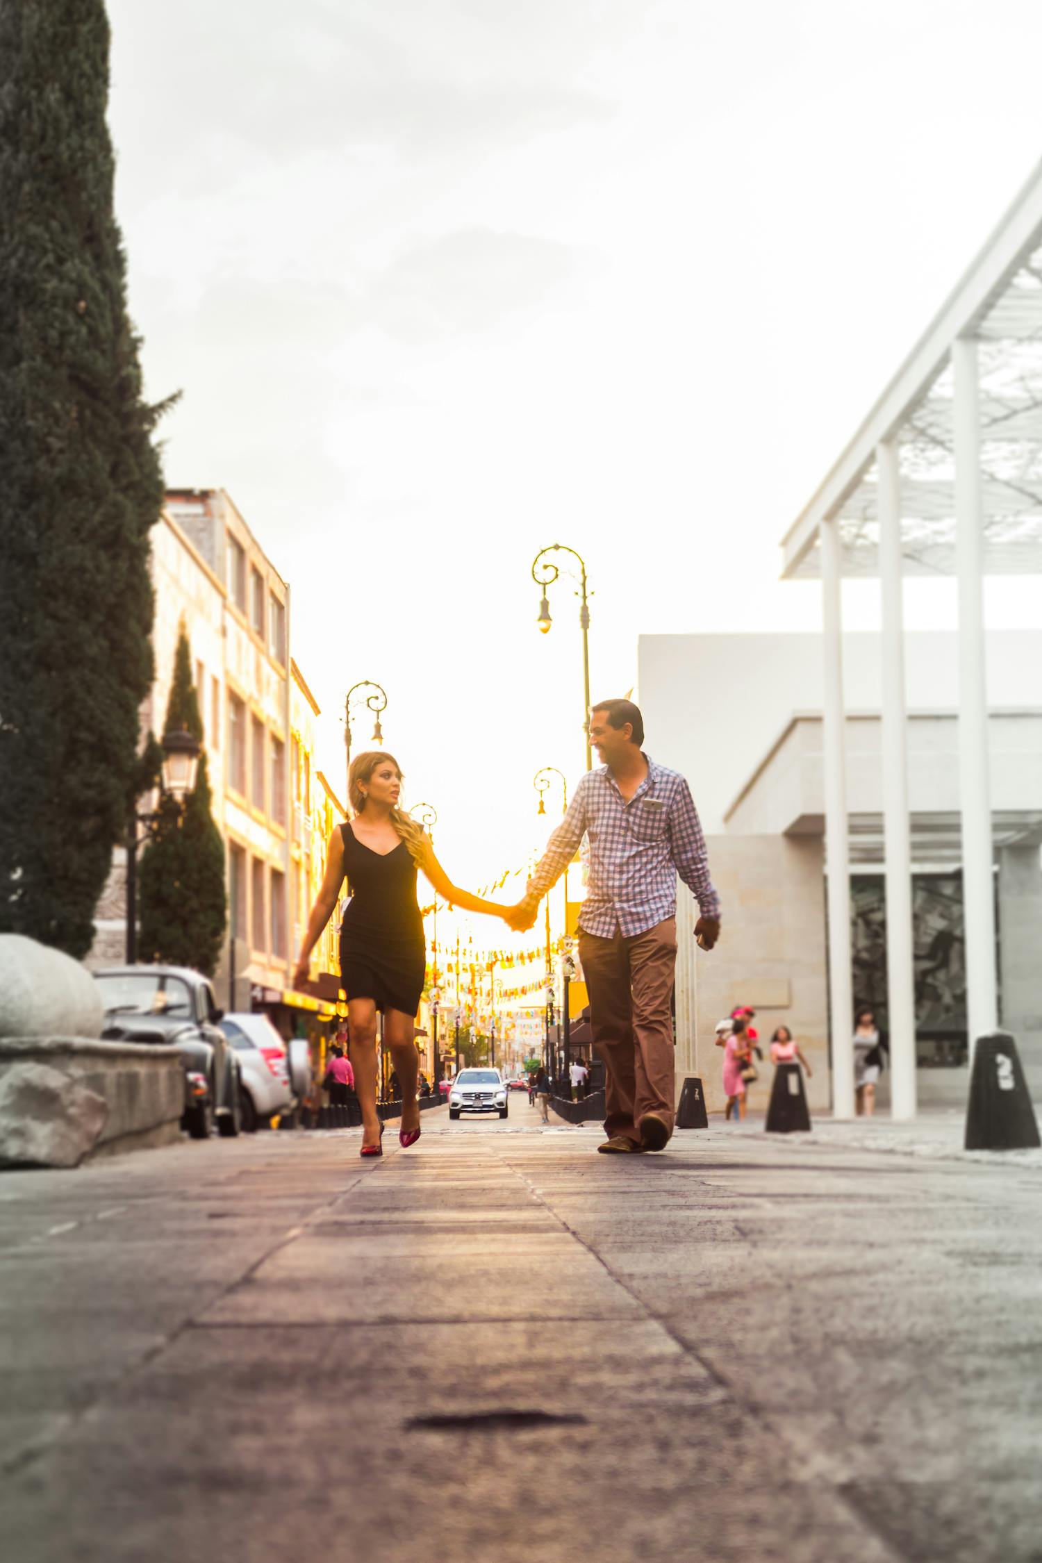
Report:
<svg viewBox="0 0 1042 1563"><path fill-rule="evenodd" d="M102 1021L102 993L80 961L0 933L0 1036L95 1038Z"/></svg>

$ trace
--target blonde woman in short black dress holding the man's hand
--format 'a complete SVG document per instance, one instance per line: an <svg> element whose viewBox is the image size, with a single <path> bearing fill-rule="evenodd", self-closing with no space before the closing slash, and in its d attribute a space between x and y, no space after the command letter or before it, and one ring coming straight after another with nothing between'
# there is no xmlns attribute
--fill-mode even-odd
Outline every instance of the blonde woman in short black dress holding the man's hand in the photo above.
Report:
<svg viewBox="0 0 1042 1563"><path fill-rule="evenodd" d="M401 1085L400 1141L420 1138L416 1102L416 1011L423 991L426 947L416 899L422 869L439 896L462 911L506 917L511 908L458 889L434 857L430 836L401 813L397 760L369 750L351 760L348 794L355 817L330 836L325 880L308 919L294 983L308 982L308 958L333 916L347 877L348 903L341 925L341 982L347 994L355 1091L362 1110L364 1157L381 1155L383 1125L376 1116L376 1010L383 1010L384 1044Z"/></svg>

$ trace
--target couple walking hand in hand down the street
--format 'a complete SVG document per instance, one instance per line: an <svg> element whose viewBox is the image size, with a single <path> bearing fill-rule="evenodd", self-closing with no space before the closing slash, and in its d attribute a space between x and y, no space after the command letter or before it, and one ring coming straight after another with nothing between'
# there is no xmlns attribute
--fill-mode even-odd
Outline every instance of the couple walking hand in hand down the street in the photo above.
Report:
<svg viewBox="0 0 1042 1563"><path fill-rule="evenodd" d="M591 710L591 741L601 769L589 771L516 907L455 886L430 836L398 808L401 772L380 750L351 761L353 819L330 839L325 880L308 919L294 983L308 982L308 958L347 878L341 927L341 982L347 994L355 1089L362 1110L362 1157L381 1155L376 1114L376 1011L401 1083L400 1141L420 1138L416 1100L416 1011L426 950L416 894L417 871L450 905L501 916L517 933L589 836L589 885L580 919L580 958L591 997L594 1043L605 1060L606 1153L661 1150L673 1132L673 1022L676 875L694 891L695 935L709 950L720 905L687 783L642 750L644 722L631 700Z"/></svg>

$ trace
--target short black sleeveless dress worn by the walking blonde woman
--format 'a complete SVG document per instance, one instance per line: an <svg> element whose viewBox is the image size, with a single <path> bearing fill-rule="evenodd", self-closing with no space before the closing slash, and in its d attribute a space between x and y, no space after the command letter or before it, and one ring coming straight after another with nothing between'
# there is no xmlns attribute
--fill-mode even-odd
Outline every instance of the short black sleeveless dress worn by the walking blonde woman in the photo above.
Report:
<svg viewBox="0 0 1042 1563"><path fill-rule="evenodd" d="M423 991L426 946L416 899L416 863L405 841L373 852L350 824L341 825L350 900L341 924L341 982L348 999L378 1010L416 1014Z"/></svg>

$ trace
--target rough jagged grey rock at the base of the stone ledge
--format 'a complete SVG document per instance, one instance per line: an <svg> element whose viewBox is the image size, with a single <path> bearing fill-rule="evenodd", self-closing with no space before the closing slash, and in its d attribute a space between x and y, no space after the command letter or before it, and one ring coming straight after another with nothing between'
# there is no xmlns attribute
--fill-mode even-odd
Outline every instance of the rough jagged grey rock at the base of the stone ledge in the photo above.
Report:
<svg viewBox="0 0 1042 1563"><path fill-rule="evenodd" d="M106 1118L105 1097L83 1080L48 1064L12 1064L0 1075L0 1166L80 1166Z"/></svg>

